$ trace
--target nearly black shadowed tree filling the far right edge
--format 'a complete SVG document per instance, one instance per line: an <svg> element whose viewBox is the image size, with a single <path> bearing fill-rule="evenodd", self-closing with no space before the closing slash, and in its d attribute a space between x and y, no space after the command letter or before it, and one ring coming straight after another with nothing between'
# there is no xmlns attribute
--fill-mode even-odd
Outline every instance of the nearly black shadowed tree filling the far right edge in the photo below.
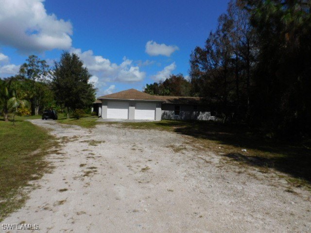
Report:
<svg viewBox="0 0 311 233"><path fill-rule="evenodd" d="M311 1L247 2L259 37L254 117L283 135L310 133Z"/></svg>

